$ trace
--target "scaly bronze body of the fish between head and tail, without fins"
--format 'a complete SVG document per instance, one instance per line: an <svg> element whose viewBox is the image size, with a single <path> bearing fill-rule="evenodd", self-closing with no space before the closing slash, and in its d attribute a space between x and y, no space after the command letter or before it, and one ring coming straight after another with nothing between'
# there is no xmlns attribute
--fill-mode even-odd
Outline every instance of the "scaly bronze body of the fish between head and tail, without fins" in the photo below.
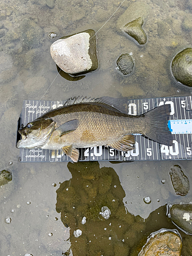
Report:
<svg viewBox="0 0 192 256"><path fill-rule="evenodd" d="M115 109L103 108L102 105L94 103L64 107L59 109L58 113L53 111L45 116L56 121L56 126L78 119L77 130L66 135L67 145L73 144L74 147L110 144L125 134L143 130L143 123L137 117L117 112ZM48 149L51 143L52 140L49 141Z"/></svg>

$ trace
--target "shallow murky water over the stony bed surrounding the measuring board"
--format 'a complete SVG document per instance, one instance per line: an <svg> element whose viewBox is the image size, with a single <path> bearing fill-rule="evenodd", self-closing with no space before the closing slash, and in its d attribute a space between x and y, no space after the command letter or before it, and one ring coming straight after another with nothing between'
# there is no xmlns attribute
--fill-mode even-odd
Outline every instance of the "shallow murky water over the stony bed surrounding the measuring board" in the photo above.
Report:
<svg viewBox="0 0 192 256"><path fill-rule="evenodd" d="M137 248L151 232L177 229L166 216L166 204L192 201L191 189L185 197L176 195L169 176L170 167L179 164L191 184L190 160L73 165L18 162L16 124L23 100L40 99L58 74L50 55L51 44L62 36L87 29L98 31L120 3L1 2L0 170L12 174L12 181L0 188L1 255L63 255L70 246L70 255L137 255L134 246ZM140 16L144 17L147 34L144 46L138 46L121 30ZM177 83L170 72L174 56L191 47L191 20L190 1L125 0L96 34L99 68L79 81L58 75L42 100L65 100L78 95L129 99L191 95L192 90ZM51 39L50 32L57 37ZM135 70L128 77L116 70L122 53L133 54ZM95 182L92 176L86 176L86 167ZM95 204L90 202L94 195ZM147 196L152 200L150 204L143 201ZM90 211L110 200L115 201L108 220L101 215L95 217L98 210ZM88 217L82 225L84 212ZM11 218L10 224L5 222L7 217ZM76 227L83 231L79 238L73 236ZM192 237L179 232L183 238L182 256L192 255Z"/></svg>

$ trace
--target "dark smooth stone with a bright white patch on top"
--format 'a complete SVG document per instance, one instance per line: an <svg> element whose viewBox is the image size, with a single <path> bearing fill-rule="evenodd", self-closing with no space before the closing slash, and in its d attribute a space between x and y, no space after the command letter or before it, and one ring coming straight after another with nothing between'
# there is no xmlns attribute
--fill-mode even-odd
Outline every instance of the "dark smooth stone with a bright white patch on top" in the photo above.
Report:
<svg viewBox="0 0 192 256"><path fill-rule="evenodd" d="M169 214L174 224L192 234L192 204L173 204Z"/></svg>

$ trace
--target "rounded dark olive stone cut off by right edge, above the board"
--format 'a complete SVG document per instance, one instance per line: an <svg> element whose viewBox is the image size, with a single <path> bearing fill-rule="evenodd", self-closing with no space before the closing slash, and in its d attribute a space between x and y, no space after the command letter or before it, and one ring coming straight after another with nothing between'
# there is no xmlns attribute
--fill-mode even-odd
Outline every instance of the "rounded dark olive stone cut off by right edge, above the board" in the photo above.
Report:
<svg viewBox="0 0 192 256"><path fill-rule="evenodd" d="M192 87L192 48L186 48L175 56L172 73L177 81Z"/></svg>

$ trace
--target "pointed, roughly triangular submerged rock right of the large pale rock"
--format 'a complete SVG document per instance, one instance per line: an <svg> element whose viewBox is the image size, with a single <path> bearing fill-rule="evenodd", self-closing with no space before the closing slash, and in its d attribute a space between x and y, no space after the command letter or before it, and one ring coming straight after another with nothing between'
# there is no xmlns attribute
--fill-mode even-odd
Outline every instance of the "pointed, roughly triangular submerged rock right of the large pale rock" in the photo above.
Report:
<svg viewBox="0 0 192 256"><path fill-rule="evenodd" d="M127 23L123 28L123 31L132 36L139 43L139 45L144 45L147 39L146 34L142 29L142 25L143 18L139 17L132 22Z"/></svg>

